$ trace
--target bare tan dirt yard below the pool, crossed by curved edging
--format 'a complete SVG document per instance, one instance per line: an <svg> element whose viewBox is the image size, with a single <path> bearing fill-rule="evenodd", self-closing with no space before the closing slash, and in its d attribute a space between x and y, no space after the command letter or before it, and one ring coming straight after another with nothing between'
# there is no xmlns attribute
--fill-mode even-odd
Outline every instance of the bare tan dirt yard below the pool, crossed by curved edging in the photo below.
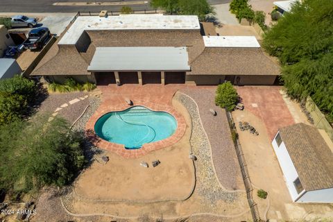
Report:
<svg viewBox="0 0 333 222"><path fill-rule="evenodd" d="M173 101L173 106L185 116L187 126L190 119L187 110L180 103ZM76 191L80 195L98 200L80 198L75 193L63 198L67 209L75 214L108 214L126 216L130 221L139 221L137 216L148 215L176 221L179 216L203 216L203 219L189 221L205 221L207 216L213 216L208 221L247 221L251 214L244 192L228 193L234 196L233 200L216 200L198 194L197 188L202 186L196 182L196 189L186 200L160 201L157 203L144 203L142 200L162 200L183 198L191 191L194 169L189 161L189 127L185 136L178 144L169 148L155 151L137 160L123 160L108 154L108 164L93 164L83 176L78 179ZM145 169L139 166L144 160L159 159L161 164L155 168ZM214 195L214 194L212 194ZM123 198L127 201L110 202L106 198ZM103 201L104 200L104 201ZM135 201L128 201L135 200ZM208 213L202 214L201 213ZM216 216L217 215L217 216ZM155 220L154 220L155 221Z"/></svg>

